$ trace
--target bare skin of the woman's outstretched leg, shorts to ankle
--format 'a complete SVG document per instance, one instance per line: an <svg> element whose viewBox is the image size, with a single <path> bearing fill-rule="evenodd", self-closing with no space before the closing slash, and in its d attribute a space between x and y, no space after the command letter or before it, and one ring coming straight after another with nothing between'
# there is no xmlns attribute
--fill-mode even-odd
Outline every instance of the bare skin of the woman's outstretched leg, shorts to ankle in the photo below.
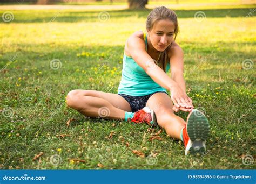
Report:
<svg viewBox="0 0 256 184"><path fill-rule="evenodd" d="M180 132L185 127L186 122L183 118L174 114L172 100L167 94L153 94L147 101L146 106L149 106L155 112L158 125L164 128L167 135L181 140Z"/></svg>

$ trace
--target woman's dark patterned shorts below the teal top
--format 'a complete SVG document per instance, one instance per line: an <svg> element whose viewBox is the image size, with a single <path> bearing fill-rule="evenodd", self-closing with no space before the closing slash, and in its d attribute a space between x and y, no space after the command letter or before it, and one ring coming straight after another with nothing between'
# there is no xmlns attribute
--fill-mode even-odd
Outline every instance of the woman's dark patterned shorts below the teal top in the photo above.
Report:
<svg viewBox="0 0 256 184"><path fill-rule="evenodd" d="M155 93L167 94L165 91L157 91ZM143 109L146 106L147 100L149 100L149 98L155 93L144 95L144 96L130 96L125 94L118 94L118 95L122 96L130 104L131 112L136 112L140 109Z"/></svg>

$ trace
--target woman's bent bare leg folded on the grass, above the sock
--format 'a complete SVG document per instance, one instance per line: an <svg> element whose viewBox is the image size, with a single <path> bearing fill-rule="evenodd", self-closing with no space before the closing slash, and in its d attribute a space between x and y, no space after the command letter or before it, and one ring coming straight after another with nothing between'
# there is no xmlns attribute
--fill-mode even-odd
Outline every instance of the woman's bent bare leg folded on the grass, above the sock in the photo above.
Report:
<svg viewBox="0 0 256 184"><path fill-rule="evenodd" d="M124 119L125 111L131 111L130 104L122 96L102 91L72 90L66 102L68 107L90 117Z"/></svg>

